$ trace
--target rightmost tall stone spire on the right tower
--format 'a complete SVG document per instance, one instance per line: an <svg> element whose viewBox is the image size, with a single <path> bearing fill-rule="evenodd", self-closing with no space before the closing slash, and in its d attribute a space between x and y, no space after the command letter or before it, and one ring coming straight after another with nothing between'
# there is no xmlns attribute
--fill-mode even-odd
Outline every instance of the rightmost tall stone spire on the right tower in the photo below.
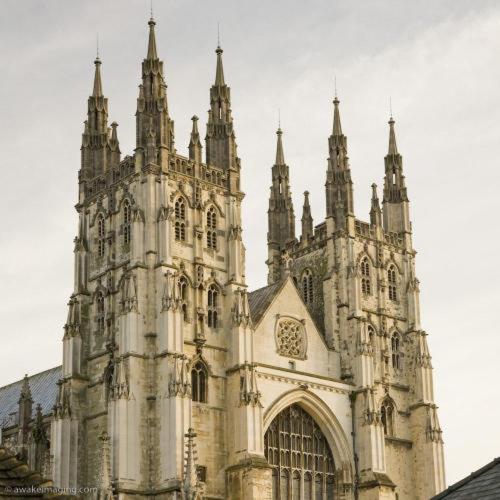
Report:
<svg viewBox="0 0 500 500"><path fill-rule="evenodd" d="M383 216L384 228L392 232L410 232L409 200L403 175L403 157L399 154L394 130L389 119L389 148L385 156Z"/></svg>

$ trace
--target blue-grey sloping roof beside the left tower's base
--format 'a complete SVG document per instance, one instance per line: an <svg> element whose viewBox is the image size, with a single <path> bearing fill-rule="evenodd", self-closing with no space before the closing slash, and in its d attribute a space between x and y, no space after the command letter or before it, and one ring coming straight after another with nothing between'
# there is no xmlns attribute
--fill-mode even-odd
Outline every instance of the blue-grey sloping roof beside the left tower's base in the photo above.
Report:
<svg viewBox="0 0 500 500"><path fill-rule="evenodd" d="M57 381L61 375L62 367L56 366L28 377L33 399L33 416L38 404L41 405L44 415L52 411L57 398ZM0 387L0 427L9 427L17 423L18 401L22 386L23 381L18 380Z"/></svg>

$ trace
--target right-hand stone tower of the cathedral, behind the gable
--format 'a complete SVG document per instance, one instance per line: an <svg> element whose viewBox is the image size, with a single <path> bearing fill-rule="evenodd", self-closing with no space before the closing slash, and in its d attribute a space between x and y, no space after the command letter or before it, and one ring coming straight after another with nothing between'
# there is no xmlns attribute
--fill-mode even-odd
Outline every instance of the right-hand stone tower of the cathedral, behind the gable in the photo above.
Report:
<svg viewBox="0 0 500 500"><path fill-rule="evenodd" d="M354 215L337 97L333 104L326 219L312 232L306 192L302 236L280 242L268 261L268 279L272 284L289 269L325 341L340 354L340 377L353 386L360 498L394 498L395 493L429 498L445 485L442 433L420 323L416 252L395 122L391 116L383 209L373 184L370 223L365 223ZM270 218L270 232L276 220ZM271 244L269 249L271 254ZM286 258L280 260L278 252Z"/></svg>

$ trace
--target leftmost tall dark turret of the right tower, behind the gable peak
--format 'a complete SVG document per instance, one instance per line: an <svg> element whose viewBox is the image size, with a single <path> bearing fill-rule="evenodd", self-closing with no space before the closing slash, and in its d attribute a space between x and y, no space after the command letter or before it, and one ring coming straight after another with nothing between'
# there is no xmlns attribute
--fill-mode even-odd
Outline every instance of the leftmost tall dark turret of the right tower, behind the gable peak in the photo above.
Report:
<svg viewBox="0 0 500 500"><path fill-rule="evenodd" d="M269 281L279 279L280 254L295 240L295 214L290 190L290 171L283 153L283 132L278 128L276 161L272 167L272 185L268 210L268 266Z"/></svg>

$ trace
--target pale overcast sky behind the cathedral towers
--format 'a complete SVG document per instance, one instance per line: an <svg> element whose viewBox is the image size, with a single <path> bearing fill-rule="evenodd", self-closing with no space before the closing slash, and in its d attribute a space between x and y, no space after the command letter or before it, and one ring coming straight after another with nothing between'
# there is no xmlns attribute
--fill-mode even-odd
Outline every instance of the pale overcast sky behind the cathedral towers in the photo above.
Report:
<svg viewBox="0 0 500 500"><path fill-rule="evenodd" d="M0 385L61 362L77 171L96 34L109 118L134 147L149 2L2 0ZM247 280L265 284L278 108L295 212L325 215L334 75L355 211L383 179L389 96L403 154L447 482L500 454L500 4L481 0L155 2L176 145L206 122L217 22L242 159ZM204 132L204 126L202 126Z"/></svg>

